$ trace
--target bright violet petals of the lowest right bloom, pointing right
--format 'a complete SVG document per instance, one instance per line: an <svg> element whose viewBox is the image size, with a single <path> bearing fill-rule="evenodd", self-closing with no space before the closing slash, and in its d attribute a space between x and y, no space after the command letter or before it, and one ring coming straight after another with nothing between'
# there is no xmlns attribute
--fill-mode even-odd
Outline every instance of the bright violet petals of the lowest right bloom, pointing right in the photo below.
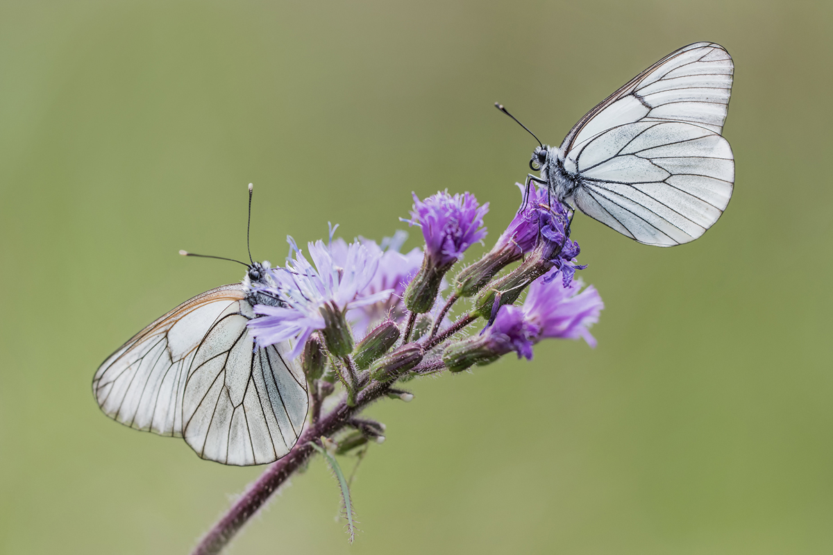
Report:
<svg viewBox="0 0 833 555"><path fill-rule="evenodd" d="M588 329L599 321L599 313L605 304L592 285L581 291L581 280L569 285L555 280L558 271L554 267L548 274L532 282L521 310L526 320L537 326L538 339L581 337L591 347L595 347L596 339ZM501 313L508 308L512 307L503 307ZM500 318L501 314L497 317Z"/></svg>

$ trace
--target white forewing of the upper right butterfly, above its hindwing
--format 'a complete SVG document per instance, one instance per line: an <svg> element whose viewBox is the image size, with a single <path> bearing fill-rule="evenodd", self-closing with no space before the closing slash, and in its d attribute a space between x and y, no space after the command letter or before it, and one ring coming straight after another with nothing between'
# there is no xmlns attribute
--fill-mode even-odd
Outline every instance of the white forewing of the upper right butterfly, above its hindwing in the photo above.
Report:
<svg viewBox="0 0 833 555"><path fill-rule="evenodd" d="M588 111L567 134L561 151L636 121L685 121L720 134L733 72L729 52L714 42L671 52Z"/></svg>

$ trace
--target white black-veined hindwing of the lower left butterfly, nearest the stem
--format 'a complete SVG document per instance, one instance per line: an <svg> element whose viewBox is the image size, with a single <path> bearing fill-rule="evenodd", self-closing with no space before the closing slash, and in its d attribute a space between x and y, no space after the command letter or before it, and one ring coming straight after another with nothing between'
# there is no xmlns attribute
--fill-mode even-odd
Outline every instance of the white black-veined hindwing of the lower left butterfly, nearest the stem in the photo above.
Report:
<svg viewBox="0 0 833 555"><path fill-rule="evenodd" d="M307 417L307 385L287 342L254 350L252 305L230 305L197 347L185 384L183 436L202 458L245 466L292 449Z"/></svg>

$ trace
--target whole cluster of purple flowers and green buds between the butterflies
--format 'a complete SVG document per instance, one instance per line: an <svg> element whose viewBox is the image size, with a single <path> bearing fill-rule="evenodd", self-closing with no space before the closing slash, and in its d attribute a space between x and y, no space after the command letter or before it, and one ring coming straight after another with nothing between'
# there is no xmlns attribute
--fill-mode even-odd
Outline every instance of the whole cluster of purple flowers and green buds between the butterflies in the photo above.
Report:
<svg viewBox="0 0 833 555"><path fill-rule="evenodd" d="M257 344L289 341L289 356L303 353L310 384L331 384L316 385L313 396L332 394L339 380L351 400L372 383L456 372L512 352L531 359L542 339L583 338L595 346L588 330L604 305L595 288L582 290L573 279L584 266L576 263L580 250L568 236L567 211L544 189L522 192L521 209L496 245L457 273L447 301L440 296L444 276L486 237L488 205L470 193L438 192L422 201L415 195L405 221L421 227L425 244L407 253L400 252L403 232L379 245L333 239L333 228L327 244L309 243L306 254L289 237L287 264L268 270L270 279L262 280L268 285L252 285L277 300L254 307L257 317L248 325ZM471 310L447 320L463 297L473 297ZM479 334L457 335L478 320Z"/></svg>

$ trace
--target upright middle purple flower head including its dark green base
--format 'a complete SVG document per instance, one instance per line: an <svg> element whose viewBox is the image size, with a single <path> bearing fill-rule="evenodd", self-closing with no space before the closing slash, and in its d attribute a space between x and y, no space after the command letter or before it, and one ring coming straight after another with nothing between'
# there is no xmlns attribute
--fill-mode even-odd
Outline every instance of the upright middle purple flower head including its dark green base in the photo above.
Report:
<svg viewBox="0 0 833 555"><path fill-rule="evenodd" d="M480 206L471 193L451 196L438 192L420 201L413 196L410 225L419 225L425 237L425 258L419 273L405 291L405 305L414 313L431 310L446 272L461 260L463 252L486 237L483 216L489 204Z"/></svg>

